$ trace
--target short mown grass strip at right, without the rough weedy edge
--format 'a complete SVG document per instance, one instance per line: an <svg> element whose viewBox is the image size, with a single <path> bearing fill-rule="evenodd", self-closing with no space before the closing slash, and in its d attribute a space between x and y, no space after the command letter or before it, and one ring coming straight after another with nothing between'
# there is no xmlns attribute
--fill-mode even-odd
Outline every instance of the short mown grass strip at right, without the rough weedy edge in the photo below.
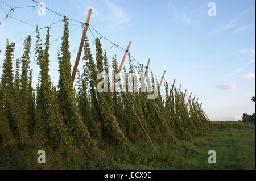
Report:
<svg viewBox="0 0 256 181"><path fill-rule="evenodd" d="M195 141L197 154L189 154L175 169L254 169L255 128L219 129ZM216 164L208 163L208 151L216 151Z"/></svg>

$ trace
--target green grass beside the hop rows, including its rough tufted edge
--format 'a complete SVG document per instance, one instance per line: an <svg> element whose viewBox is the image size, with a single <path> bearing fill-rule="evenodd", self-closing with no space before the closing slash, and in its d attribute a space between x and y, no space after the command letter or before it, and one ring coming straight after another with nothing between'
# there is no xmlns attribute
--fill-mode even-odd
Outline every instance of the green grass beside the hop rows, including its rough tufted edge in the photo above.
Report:
<svg viewBox="0 0 256 181"><path fill-rule="evenodd" d="M121 163L119 169L255 170L255 128L218 129L209 136L196 138L192 144L181 144L183 150L176 150L175 145L158 145L159 155L148 155L150 150L138 148L150 159L142 165ZM216 151L216 164L208 163L209 150Z"/></svg>

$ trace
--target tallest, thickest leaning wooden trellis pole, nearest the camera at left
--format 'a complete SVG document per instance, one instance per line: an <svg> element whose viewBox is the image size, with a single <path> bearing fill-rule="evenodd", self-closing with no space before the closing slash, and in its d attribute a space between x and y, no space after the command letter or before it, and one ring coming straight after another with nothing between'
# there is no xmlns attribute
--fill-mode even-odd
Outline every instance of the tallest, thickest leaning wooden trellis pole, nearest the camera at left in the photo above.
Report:
<svg viewBox="0 0 256 181"><path fill-rule="evenodd" d="M80 45L79 45L79 50L77 52L76 61L75 61L75 65L74 65L73 72L72 72L72 81L73 81L73 83L75 81L76 71L77 71L77 67L79 65L79 61L80 61L80 57L81 57L81 53L82 53L82 47L84 46L84 39L85 39L86 32L88 30L88 24L90 22L90 15L91 14L92 14L92 9L90 9L88 11L86 24L84 26L84 32L82 33L82 39L81 39L81 42L80 42Z"/></svg>

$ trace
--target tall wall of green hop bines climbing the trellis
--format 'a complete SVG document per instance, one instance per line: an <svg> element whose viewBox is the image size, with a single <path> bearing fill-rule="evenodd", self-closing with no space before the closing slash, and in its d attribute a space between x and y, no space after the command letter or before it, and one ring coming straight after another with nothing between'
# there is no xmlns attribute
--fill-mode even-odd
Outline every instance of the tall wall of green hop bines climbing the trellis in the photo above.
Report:
<svg viewBox="0 0 256 181"><path fill-rule="evenodd" d="M116 169L116 163L142 163L146 167L168 169L180 155L197 152L193 142L196 137L208 136L214 128L244 127L242 123L210 122L198 103L186 102L184 94L176 89L170 92L167 82L163 99L158 83L154 82L155 75L144 80L137 78L135 70L142 73L143 65L135 67L130 54L129 67L123 66L122 71L133 90L98 92L97 85L102 80L97 79L97 74L104 72L105 77L110 74L108 55L97 38L93 58L86 35L83 69L81 75L77 71L75 90L68 19L64 18L63 22L57 86L52 85L49 75L50 28L43 44L36 27L35 60L40 68L36 91L29 67L31 36L24 41L24 53L16 60L15 74L15 44L7 40L0 85L0 165L22 165L26 169ZM117 56L112 57L112 68L116 75ZM128 77L128 73L133 76ZM113 78L108 80L108 88L113 81ZM134 90L134 87L142 89L141 81L148 85L146 93ZM127 90L128 82L118 83ZM148 99L154 88L158 97ZM245 116L245 122L249 121ZM152 149L148 135L156 143L159 154ZM36 162L40 149L47 152L46 165ZM166 151L170 149L174 154ZM12 156L15 161L10 159Z"/></svg>

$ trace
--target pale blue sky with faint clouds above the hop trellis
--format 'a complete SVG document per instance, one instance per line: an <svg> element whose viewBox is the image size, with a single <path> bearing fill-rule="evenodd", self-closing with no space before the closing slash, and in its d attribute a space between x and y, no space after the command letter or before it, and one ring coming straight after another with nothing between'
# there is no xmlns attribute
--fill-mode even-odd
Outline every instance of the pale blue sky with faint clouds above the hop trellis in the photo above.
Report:
<svg viewBox="0 0 256 181"><path fill-rule="evenodd" d="M36 5L31 0L3 0L13 7ZM159 75L166 70L165 79L176 87L182 84L182 91L188 90L203 102L203 108L211 120L239 120L243 113L255 113L255 1L117 1L117 0L43 0L47 7L69 18L85 22L87 12L92 8L90 25L114 43L126 48L132 41L130 52L136 60L147 64ZM216 16L209 16L209 2L216 3ZM10 7L0 2L9 12ZM32 25L45 27L61 17L46 10L46 16L38 16L38 7L15 9L10 16ZM0 7L0 19L5 12ZM80 25L70 22L70 50L72 64L81 39ZM51 29L51 40L61 37L63 23ZM78 29L76 29L78 28ZM8 18L0 25L0 49L5 40L17 41L35 28ZM92 30L93 31L93 30ZM42 38L45 30L40 31ZM99 37L93 31L95 37ZM89 41L93 41L88 31ZM32 35L35 40L35 35ZM16 44L15 58L22 54L22 43ZM33 46L35 45L33 41ZM58 81L56 60L60 39L51 44L51 77ZM94 50L92 44L92 51ZM102 40L102 47L111 44ZM34 48L34 47L33 47ZM0 66L4 58L0 54ZM108 49L109 59L118 55L121 62L123 51ZM31 54L33 82L36 85L38 67ZM127 64L127 63L126 63ZM82 68L82 61L79 69ZM0 70L2 73L2 70Z"/></svg>

